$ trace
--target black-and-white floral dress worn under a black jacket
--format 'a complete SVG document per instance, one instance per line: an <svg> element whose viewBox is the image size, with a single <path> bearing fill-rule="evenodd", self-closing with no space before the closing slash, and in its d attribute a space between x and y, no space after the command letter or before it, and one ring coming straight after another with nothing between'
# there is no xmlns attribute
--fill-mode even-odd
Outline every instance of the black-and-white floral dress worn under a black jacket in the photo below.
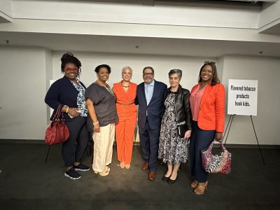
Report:
<svg viewBox="0 0 280 210"><path fill-rule="evenodd" d="M158 158L171 164L188 160L188 140L180 138L177 130L175 94L170 92L165 99L158 149Z"/></svg>

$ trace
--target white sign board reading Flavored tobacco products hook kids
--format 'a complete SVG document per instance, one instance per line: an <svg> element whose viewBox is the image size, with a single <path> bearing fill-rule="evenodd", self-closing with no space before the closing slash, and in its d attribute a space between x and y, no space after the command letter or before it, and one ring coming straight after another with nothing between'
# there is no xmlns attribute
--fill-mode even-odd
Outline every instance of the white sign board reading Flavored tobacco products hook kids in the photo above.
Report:
<svg viewBox="0 0 280 210"><path fill-rule="evenodd" d="M258 80L228 80L228 115L257 116Z"/></svg>

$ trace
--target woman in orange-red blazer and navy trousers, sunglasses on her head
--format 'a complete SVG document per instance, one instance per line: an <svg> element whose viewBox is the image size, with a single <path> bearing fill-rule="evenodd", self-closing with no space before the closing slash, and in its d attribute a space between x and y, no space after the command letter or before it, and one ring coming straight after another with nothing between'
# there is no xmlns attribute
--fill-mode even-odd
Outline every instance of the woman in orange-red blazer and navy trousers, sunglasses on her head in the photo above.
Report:
<svg viewBox="0 0 280 210"><path fill-rule="evenodd" d="M208 173L202 167L201 151L216 139L221 141L225 124L225 87L218 79L215 62L204 62L198 84L190 92L193 132L190 137L190 184L197 195L204 194Z"/></svg>

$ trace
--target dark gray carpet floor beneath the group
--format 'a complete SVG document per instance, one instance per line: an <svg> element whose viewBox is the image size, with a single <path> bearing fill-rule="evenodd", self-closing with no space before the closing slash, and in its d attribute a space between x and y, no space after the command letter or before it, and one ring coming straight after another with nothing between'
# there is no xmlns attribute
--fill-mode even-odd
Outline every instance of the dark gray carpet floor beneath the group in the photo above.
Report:
<svg viewBox="0 0 280 210"><path fill-rule="evenodd" d="M121 169L114 147L109 176L92 170L81 179L64 177L61 146L0 144L0 209L280 209L280 150L229 148L232 173L211 174L202 196L190 188L190 164L185 163L173 185L162 181L166 167L159 163L157 179L148 181L139 146L132 166ZM84 163L91 164L85 155Z"/></svg>

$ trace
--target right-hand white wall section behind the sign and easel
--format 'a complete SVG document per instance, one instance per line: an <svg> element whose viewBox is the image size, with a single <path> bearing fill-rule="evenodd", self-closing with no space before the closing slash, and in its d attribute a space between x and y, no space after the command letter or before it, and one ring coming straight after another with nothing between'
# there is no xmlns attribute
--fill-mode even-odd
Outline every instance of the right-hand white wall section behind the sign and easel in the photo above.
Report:
<svg viewBox="0 0 280 210"><path fill-rule="evenodd" d="M224 59L223 84L227 92L228 79L258 80L258 116L252 118L260 144L280 145L279 66L280 60L271 57L230 55ZM227 142L257 144L249 116L235 116Z"/></svg>

